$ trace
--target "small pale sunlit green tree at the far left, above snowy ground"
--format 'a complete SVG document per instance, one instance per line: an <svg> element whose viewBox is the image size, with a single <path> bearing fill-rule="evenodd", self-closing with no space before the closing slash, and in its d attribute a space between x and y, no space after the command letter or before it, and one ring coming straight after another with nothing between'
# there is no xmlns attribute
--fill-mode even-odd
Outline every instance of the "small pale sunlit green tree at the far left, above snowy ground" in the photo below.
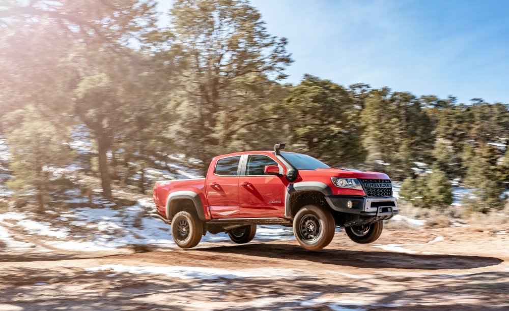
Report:
<svg viewBox="0 0 509 311"><path fill-rule="evenodd" d="M73 153L66 144L66 133L42 119L33 106L15 111L8 118L19 119L21 115L19 126L6 136L10 151L9 169L12 170L7 186L16 196L35 197L39 211L43 211L48 195L54 190L54 184L50 182L51 172L68 165L73 160Z"/></svg>

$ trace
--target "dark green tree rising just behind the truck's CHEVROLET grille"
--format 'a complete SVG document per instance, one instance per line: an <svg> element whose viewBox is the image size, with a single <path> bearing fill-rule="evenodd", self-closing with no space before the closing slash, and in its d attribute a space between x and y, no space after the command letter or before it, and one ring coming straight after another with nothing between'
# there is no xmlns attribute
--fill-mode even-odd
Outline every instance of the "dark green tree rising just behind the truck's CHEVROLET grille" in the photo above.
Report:
<svg viewBox="0 0 509 311"><path fill-rule="evenodd" d="M428 115L408 92L372 90L361 112L366 165L393 178L412 173L413 162L429 159L433 142Z"/></svg>

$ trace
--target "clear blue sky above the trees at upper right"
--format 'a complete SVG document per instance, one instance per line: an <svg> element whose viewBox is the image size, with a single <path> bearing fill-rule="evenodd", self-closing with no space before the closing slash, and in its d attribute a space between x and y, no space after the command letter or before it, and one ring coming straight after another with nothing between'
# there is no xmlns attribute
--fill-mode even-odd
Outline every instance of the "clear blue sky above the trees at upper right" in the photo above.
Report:
<svg viewBox="0 0 509 311"><path fill-rule="evenodd" d="M509 1L251 0L305 73L415 95L509 103ZM169 8L163 1L161 10Z"/></svg>

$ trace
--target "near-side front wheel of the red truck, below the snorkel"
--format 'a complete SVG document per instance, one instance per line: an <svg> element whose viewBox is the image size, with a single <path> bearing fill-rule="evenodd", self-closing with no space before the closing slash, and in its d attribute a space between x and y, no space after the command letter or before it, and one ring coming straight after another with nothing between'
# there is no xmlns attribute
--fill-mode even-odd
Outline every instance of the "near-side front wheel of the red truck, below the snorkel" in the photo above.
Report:
<svg viewBox="0 0 509 311"><path fill-rule="evenodd" d="M300 246L309 251L321 250L334 237L336 224L326 208L306 205L299 209L293 219L293 233Z"/></svg>

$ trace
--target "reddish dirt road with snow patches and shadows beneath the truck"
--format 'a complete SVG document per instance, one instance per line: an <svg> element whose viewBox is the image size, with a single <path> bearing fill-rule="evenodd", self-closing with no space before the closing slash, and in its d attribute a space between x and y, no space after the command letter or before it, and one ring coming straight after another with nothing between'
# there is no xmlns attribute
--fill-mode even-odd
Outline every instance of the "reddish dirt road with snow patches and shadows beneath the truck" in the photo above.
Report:
<svg viewBox="0 0 509 311"><path fill-rule="evenodd" d="M0 253L0 309L509 308L508 234L386 230L370 245L336 235L319 252L255 240L187 251Z"/></svg>

